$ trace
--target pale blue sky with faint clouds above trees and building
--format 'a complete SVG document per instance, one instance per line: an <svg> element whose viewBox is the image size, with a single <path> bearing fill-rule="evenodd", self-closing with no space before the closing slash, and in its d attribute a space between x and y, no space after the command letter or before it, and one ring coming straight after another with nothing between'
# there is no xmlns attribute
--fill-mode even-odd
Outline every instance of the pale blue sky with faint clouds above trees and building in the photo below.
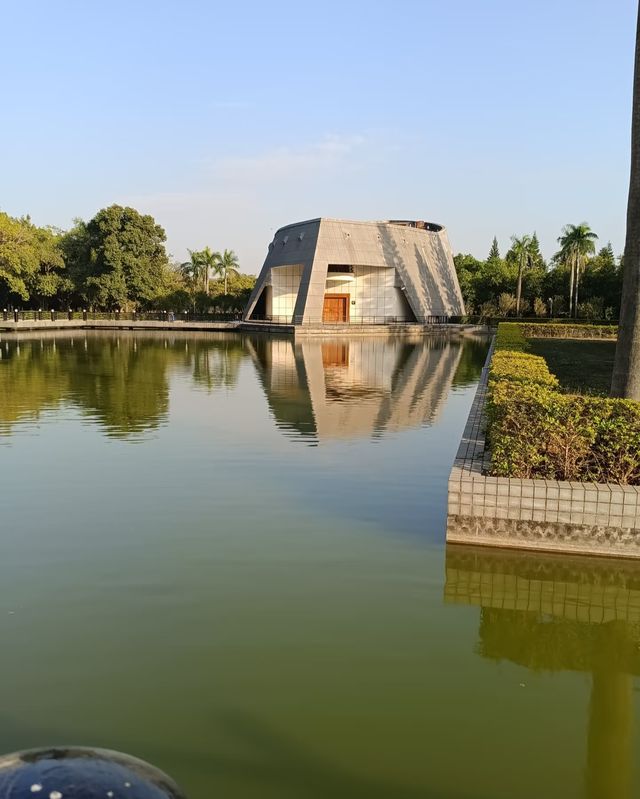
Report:
<svg viewBox="0 0 640 799"><path fill-rule="evenodd" d="M0 208L153 214L257 272L316 216L624 242L635 0L0 0Z"/></svg>

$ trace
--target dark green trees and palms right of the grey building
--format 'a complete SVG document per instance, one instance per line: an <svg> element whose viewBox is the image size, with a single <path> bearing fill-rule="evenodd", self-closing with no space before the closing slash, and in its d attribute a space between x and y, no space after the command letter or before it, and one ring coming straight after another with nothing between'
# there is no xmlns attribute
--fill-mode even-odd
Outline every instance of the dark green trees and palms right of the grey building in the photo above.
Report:
<svg viewBox="0 0 640 799"><path fill-rule="evenodd" d="M454 257L467 313L494 316L566 316L615 320L620 313L623 259L611 244L596 249L586 222L565 225L558 252L547 263L536 233L512 236L501 257L494 237L487 258Z"/></svg>

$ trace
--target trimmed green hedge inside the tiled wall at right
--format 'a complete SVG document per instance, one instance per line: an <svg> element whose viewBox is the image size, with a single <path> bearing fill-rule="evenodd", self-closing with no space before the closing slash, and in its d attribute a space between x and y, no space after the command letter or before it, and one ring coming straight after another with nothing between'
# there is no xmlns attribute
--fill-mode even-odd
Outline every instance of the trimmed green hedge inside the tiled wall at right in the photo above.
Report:
<svg viewBox="0 0 640 799"><path fill-rule="evenodd" d="M640 485L640 403L562 393L522 327L499 326L489 368L492 473Z"/></svg>

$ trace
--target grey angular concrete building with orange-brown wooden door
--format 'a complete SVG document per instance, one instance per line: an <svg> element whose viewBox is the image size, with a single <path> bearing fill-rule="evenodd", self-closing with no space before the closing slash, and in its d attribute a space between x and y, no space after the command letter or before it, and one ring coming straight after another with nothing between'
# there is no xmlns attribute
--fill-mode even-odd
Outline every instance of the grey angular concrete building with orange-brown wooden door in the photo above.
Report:
<svg viewBox="0 0 640 799"><path fill-rule="evenodd" d="M442 322L462 314L442 225L322 218L276 232L244 319L390 324Z"/></svg>

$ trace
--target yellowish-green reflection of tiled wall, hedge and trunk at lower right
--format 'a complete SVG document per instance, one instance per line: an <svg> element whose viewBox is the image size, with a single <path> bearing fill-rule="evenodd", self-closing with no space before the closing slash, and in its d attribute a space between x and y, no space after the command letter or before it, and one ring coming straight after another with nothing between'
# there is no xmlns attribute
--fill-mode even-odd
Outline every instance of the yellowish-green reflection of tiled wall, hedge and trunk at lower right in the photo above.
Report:
<svg viewBox="0 0 640 799"><path fill-rule="evenodd" d="M444 595L448 603L481 609L482 657L533 671L591 674L586 796L630 799L638 566L450 546Z"/></svg>

